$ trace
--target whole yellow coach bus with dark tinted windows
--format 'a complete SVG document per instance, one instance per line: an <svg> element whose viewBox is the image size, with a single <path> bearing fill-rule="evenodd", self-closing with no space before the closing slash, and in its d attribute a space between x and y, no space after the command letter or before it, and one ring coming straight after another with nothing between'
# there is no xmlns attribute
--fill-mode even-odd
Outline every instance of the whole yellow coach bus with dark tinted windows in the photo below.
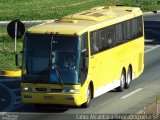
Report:
<svg viewBox="0 0 160 120"><path fill-rule="evenodd" d="M142 11L102 6L33 26L22 64L22 102L89 107L143 72Z"/></svg>

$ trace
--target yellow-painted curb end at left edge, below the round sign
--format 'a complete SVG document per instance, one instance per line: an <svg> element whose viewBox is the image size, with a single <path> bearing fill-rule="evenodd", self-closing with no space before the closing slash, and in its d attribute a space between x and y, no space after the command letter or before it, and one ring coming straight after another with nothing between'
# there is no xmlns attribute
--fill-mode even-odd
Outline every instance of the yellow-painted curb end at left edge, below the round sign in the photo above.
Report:
<svg viewBox="0 0 160 120"><path fill-rule="evenodd" d="M20 77L21 76L21 70L18 71L0 71L0 76L4 77Z"/></svg>

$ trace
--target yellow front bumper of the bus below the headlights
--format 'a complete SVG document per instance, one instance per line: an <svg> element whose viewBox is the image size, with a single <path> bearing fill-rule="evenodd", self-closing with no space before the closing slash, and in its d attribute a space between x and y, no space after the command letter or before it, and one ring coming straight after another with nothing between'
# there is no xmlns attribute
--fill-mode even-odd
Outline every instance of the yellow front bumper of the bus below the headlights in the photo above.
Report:
<svg viewBox="0 0 160 120"><path fill-rule="evenodd" d="M79 106L85 102L80 94L21 92L23 103Z"/></svg>

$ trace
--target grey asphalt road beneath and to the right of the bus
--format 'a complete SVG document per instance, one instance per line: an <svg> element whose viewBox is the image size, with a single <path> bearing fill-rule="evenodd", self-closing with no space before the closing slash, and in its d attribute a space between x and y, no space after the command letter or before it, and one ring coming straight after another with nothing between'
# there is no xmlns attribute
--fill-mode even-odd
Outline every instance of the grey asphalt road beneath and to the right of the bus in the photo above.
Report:
<svg viewBox="0 0 160 120"><path fill-rule="evenodd" d="M33 105L24 105L12 113L22 113L23 115L19 116L20 120L72 120L90 117L83 115L87 113L132 114L154 102L156 95L160 94L160 14L148 14L144 18L148 40L145 47L145 69L138 79L132 81L130 89L122 93L112 91L101 95L93 99L87 109L50 106L52 109L39 110Z"/></svg>

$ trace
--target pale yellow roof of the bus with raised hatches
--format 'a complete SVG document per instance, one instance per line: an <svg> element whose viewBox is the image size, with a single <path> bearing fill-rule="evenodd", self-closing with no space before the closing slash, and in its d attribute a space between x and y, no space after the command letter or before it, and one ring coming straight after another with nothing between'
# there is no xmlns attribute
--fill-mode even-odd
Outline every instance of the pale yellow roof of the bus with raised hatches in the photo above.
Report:
<svg viewBox="0 0 160 120"><path fill-rule="evenodd" d="M37 34L82 34L142 15L137 7L102 6L85 10L28 29Z"/></svg>

